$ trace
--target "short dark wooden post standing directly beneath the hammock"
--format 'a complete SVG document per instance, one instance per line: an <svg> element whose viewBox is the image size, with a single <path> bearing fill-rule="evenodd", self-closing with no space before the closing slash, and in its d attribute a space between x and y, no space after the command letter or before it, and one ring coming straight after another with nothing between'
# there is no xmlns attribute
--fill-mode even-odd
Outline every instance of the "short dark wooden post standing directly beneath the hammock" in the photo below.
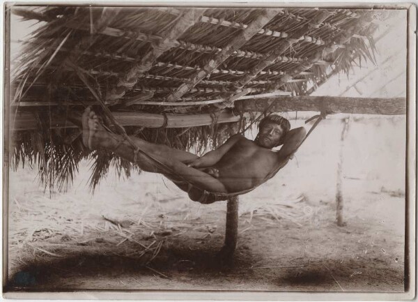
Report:
<svg viewBox="0 0 418 302"><path fill-rule="evenodd" d="M226 204L226 228L225 242L219 251L218 257L221 259L231 259L238 241L238 196L229 197Z"/></svg>

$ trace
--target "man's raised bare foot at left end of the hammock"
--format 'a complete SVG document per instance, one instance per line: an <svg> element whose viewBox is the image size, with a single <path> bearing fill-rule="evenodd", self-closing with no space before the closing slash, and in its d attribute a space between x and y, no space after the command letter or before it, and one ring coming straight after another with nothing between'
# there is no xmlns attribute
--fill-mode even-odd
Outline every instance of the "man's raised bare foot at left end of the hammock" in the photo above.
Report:
<svg viewBox="0 0 418 302"><path fill-rule="evenodd" d="M83 144L88 149L111 148L114 144L114 138L100 124L98 116L90 107L84 110L82 116L83 125Z"/></svg>

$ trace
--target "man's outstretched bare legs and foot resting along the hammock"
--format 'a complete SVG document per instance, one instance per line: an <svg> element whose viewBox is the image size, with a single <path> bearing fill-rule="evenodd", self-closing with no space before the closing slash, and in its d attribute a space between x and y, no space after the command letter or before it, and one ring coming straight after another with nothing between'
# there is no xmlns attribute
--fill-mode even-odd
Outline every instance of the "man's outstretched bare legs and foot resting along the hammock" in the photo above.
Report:
<svg viewBox="0 0 418 302"><path fill-rule="evenodd" d="M98 116L88 109L83 114L83 142L90 149L109 149L118 156L136 163L146 172L166 174L173 181L191 183L210 192L227 192L224 184L218 179L182 163L197 158L192 153L183 153L166 146L160 148L161 145L153 146L142 139L136 139L135 144L139 143L139 148L144 152L139 151L135 156L134 147L124 142L121 135L107 132L98 121Z"/></svg>

